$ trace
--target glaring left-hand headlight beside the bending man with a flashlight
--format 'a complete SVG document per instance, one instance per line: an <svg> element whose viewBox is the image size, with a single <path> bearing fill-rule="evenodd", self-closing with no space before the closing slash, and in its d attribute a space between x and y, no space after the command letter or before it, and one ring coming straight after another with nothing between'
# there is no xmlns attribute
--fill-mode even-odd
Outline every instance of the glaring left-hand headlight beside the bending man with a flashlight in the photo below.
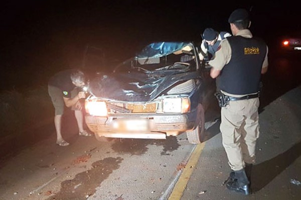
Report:
<svg viewBox="0 0 301 200"><path fill-rule="evenodd" d="M86 112L95 116L107 116L108 110L104 101L85 101Z"/></svg>

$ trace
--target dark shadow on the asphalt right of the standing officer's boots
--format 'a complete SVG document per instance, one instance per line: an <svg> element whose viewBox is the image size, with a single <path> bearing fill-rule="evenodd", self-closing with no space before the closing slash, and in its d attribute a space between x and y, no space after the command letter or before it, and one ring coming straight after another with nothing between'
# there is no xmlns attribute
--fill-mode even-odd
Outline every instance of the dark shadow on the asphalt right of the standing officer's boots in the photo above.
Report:
<svg viewBox="0 0 301 200"><path fill-rule="evenodd" d="M253 191L259 191L301 155L301 141L285 152L253 166Z"/></svg>

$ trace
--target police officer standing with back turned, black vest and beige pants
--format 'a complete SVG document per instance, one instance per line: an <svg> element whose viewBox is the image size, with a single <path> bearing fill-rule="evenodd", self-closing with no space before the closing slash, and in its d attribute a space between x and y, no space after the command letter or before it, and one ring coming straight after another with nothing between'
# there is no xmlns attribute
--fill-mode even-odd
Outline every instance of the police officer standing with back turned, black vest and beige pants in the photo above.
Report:
<svg viewBox="0 0 301 200"><path fill-rule="evenodd" d="M223 146L232 172L227 188L250 194L250 176L259 137L258 106L261 74L267 71L267 45L252 36L247 10L235 9L228 22L234 36L220 42L210 75L218 79Z"/></svg>

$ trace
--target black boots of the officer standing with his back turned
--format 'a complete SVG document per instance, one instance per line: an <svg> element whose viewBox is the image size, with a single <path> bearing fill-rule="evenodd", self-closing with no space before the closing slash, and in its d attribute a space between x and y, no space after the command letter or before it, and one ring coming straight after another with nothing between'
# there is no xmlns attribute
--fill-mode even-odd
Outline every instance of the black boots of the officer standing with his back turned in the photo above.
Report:
<svg viewBox="0 0 301 200"><path fill-rule="evenodd" d="M227 188L238 192L238 193L242 193L244 195L248 195L251 193L250 191L250 187L249 187L249 180L248 177L246 175L246 172L244 169L238 170L238 171L234 171L235 172L235 177L236 179L234 179L233 181L228 181L227 182ZM231 173L230 173L231 175Z"/></svg>

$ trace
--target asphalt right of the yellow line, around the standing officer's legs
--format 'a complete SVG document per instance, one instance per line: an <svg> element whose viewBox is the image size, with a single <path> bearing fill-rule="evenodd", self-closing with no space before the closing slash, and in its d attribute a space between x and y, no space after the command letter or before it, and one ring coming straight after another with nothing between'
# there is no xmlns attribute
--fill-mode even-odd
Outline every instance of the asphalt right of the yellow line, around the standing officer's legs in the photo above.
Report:
<svg viewBox="0 0 301 200"><path fill-rule="evenodd" d="M217 134L206 141L181 199L300 199L301 183L291 183L301 181L300 119L301 86L278 97L260 113L257 163L251 178L254 194L241 196L222 185L229 167L221 134Z"/></svg>

